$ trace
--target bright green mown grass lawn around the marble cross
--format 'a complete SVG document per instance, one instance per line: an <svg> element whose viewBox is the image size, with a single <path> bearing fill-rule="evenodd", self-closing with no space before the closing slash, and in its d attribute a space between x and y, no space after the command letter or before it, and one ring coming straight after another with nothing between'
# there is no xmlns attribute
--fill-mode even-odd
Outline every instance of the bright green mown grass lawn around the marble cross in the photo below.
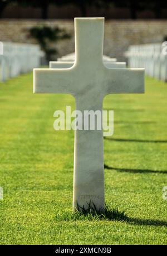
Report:
<svg viewBox="0 0 167 256"><path fill-rule="evenodd" d="M0 244L166 244L167 84L147 78L144 95L104 100L115 115L104 140L111 220L73 218L74 133L55 131L53 113L75 100L32 84L32 74L0 84Z"/></svg>

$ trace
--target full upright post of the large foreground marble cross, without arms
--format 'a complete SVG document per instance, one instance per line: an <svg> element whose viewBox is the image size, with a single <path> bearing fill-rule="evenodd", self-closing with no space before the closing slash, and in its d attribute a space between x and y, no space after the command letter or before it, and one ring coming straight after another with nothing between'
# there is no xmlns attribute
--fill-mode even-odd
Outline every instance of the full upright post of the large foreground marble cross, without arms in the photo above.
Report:
<svg viewBox="0 0 167 256"><path fill-rule="evenodd" d="M82 116L84 110L100 110L102 117L103 98L98 90L96 92L99 81L96 83L94 78L98 67L103 65L103 41L104 18L75 18L76 66L81 67L82 75L90 78L84 92L85 85L78 81L81 93L75 97L76 109L82 112ZM104 210L103 154L102 129L75 131L73 210L87 209L89 204L91 207L96 205L97 210Z"/></svg>

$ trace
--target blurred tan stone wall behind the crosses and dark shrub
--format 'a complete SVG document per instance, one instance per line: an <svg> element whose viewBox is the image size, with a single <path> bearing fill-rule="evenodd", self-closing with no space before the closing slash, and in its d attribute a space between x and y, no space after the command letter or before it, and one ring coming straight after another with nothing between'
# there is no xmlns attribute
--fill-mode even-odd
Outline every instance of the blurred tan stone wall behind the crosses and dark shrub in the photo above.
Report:
<svg viewBox="0 0 167 256"><path fill-rule="evenodd" d="M28 30L37 25L59 26L71 34L70 39L56 42L58 56L75 51L73 20L0 20L0 41L35 43ZM164 36L165 20L106 20L104 54L123 61L129 45L163 42Z"/></svg>

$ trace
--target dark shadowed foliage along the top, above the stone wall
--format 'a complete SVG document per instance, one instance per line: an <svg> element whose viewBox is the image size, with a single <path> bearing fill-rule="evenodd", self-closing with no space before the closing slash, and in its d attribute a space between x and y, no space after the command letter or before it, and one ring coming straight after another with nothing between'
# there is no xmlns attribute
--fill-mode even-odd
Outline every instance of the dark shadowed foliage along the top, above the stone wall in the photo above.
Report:
<svg viewBox="0 0 167 256"><path fill-rule="evenodd" d="M32 6L41 8L43 19L48 18L48 7L50 4L55 4L55 6L67 6L67 4L72 3L80 9L81 17L87 17L87 11L92 6L99 8L112 8L113 6L128 8L130 17L134 20L137 18L137 13L144 10L150 10L155 13L155 18L161 18L161 11L163 8L167 8L166 0L0 0L0 17L4 8L9 3L17 3L24 7Z"/></svg>

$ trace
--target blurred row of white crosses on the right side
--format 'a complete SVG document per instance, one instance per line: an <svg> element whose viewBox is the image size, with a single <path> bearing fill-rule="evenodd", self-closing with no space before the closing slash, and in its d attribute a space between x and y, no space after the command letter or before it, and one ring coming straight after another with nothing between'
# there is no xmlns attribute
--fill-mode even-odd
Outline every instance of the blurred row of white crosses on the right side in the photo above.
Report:
<svg viewBox="0 0 167 256"><path fill-rule="evenodd" d="M166 46L167 42L164 44L131 45L125 52L129 67L145 67L147 75L167 81Z"/></svg>

